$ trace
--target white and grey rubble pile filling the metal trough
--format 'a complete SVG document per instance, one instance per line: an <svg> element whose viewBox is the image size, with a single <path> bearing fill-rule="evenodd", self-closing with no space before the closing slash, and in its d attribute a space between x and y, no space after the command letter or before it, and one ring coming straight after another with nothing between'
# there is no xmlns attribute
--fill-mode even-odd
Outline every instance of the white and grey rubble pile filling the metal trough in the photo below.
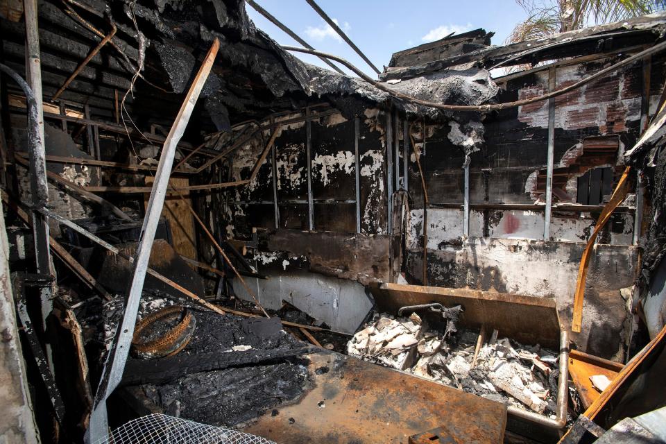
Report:
<svg viewBox="0 0 666 444"><path fill-rule="evenodd" d="M490 400L554 415L558 357L474 330L458 330L462 307L443 310L445 327L432 329L416 313L375 314L348 342L348 355L431 379ZM479 339L481 336L481 339ZM484 336L488 336L484 340ZM477 345L478 344L478 345Z"/></svg>

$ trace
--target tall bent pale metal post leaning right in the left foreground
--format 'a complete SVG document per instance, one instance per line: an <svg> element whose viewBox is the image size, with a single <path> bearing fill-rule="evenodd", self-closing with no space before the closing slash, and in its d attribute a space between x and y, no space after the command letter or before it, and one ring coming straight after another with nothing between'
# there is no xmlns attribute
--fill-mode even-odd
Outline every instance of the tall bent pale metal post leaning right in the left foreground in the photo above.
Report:
<svg viewBox="0 0 666 444"><path fill-rule="evenodd" d="M173 167L173 157L176 154L176 146L185 132L192 110L203 89L203 85L210 74L210 69L215 61L217 51L219 50L219 40L215 39L210 51L208 51L203 65L201 65L198 74L194 78L194 83L189 88L185 101L183 101L173 121L171 130L167 139L164 141L160 163L155 173L155 181L151 197L146 205L146 216L141 229L141 237L137 246L137 253L133 263L132 281L128 289L128 298L125 305L123 320L117 327L116 335L109 350L102 377L97 389L95 404L90 416L90 424L86 436L87 443L99 442L107 436L108 417L106 411L106 400L109 395L118 386L125 370L130 344L134 335L137 313L139 311L139 302L144 289L144 280L148 269L148 260L151 257L153 241L157 225L160 223L160 215L164 207L164 198L167 195L169 186L169 177L171 176L171 167Z"/></svg>

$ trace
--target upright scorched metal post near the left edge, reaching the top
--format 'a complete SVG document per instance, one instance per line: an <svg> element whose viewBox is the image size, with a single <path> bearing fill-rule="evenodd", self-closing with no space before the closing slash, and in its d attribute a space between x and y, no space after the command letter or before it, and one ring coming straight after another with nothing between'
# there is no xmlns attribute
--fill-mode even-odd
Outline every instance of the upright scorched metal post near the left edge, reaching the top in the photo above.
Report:
<svg viewBox="0 0 666 444"><path fill-rule="evenodd" d="M49 186L46 182L46 151L44 149L44 105L42 105L42 62L40 59L40 35L37 22L37 0L24 0L26 17L26 74L30 85L35 107L37 108L36 135L30 140L30 192L32 195L33 237L35 241L35 256L37 258L37 273L53 275L51 264L51 250L49 248L49 223L41 210L49 202ZM42 322L53 308L53 288L40 289L42 300ZM43 324L42 326L44 326ZM49 354L49 350L47 355Z"/></svg>

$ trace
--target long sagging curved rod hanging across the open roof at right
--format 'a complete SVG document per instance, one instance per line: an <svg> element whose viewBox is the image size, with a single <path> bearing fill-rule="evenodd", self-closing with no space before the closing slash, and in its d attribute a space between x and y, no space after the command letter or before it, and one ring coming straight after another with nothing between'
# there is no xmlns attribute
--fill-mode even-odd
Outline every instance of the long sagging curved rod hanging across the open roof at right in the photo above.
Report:
<svg viewBox="0 0 666 444"><path fill-rule="evenodd" d="M360 69L358 69L350 62L341 57L334 56L332 54L323 53L321 51L299 48L298 46L282 46L282 48L286 49L287 51L296 51L296 52L314 54L314 56L327 57L332 60L335 60L336 62L340 62L343 65L345 65L345 67L348 67L349 69L354 71L355 74L357 74L360 78L370 83L370 85L373 85L377 89L380 89L384 92L387 92L388 94L391 94L391 96L395 97L396 99L401 99L404 101L408 101L410 103L414 103L416 105L427 106L428 108L436 108L438 110L445 110L445 111L489 112L489 111L505 110L506 108L515 108L517 106L529 105L530 103L545 101L547 99L552 99L554 97L561 96L562 94L566 94L567 92L574 91L574 89L578 89L579 87L586 85L587 83L590 83L593 80L597 80L598 78L606 76L606 74L610 74L611 72L617 71L617 69L620 69L621 67L624 67L626 65L631 65L631 63L633 62L642 60L647 56L651 56L652 54L665 50L666 41L651 46L650 48L645 49L644 51L640 51L640 53L636 53L629 58L620 60L620 62L617 62L614 65L610 65L610 67L608 68L601 69L601 71L592 74L592 76L590 77L583 78L579 80L577 83L574 83L567 87L563 87L561 89L556 89L555 91L549 92L548 94L543 94L543 96L536 96L532 97L531 99L522 99L507 103L493 103L488 105L445 105L443 103L436 103L436 102L418 99L413 96L408 96L407 94L402 94L402 92L395 91L395 89L391 89L390 87L387 87L383 83L379 83L376 80L373 80L368 75L364 74L363 71L361 71Z"/></svg>

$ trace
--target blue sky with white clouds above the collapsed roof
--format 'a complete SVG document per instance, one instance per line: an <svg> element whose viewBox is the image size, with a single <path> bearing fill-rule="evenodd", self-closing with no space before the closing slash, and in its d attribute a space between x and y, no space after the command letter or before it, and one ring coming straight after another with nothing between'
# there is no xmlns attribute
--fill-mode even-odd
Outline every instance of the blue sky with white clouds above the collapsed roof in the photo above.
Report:
<svg viewBox="0 0 666 444"><path fill-rule="evenodd" d="M374 77L373 70L327 26L305 0L255 0L319 51L341 56ZM456 31L494 31L493 44L502 44L526 14L514 0L317 0L379 70L391 54L438 40ZM280 44L300 46L246 5L250 19ZM302 60L327 67L307 54Z"/></svg>

